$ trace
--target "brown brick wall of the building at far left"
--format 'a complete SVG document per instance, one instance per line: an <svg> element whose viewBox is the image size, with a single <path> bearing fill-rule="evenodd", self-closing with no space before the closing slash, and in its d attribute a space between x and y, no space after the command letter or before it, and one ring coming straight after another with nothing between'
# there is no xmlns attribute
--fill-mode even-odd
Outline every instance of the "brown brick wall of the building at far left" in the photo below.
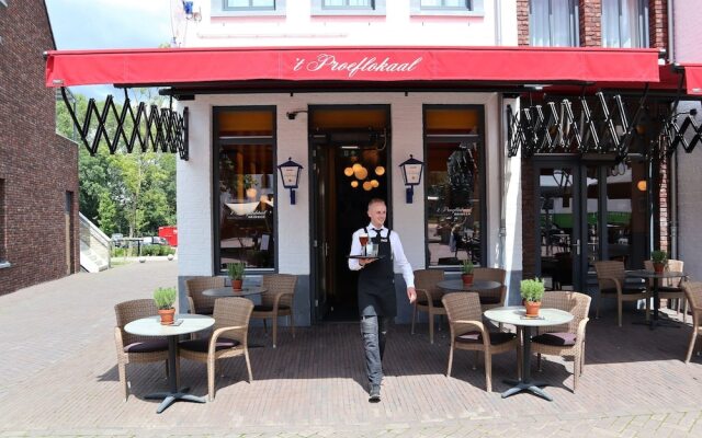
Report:
<svg viewBox="0 0 702 438"><path fill-rule="evenodd" d="M78 149L55 134L54 91L42 53L54 48L44 2L0 7L0 180L4 185L0 295L63 277L66 192L73 193L73 263L79 268ZM0 222L2 223L2 222Z"/></svg>

